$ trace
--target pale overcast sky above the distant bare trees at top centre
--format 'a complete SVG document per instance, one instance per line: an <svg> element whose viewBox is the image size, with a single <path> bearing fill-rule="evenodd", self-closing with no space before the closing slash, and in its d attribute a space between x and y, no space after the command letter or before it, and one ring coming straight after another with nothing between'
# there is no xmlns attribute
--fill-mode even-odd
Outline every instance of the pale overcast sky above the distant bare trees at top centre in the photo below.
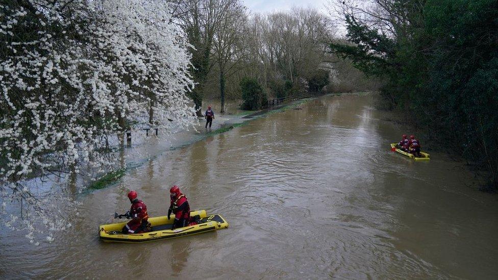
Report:
<svg viewBox="0 0 498 280"><path fill-rule="evenodd" d="M312 7L325 13L324 5L329 0L243 0L245 6L253 13L288 11L293 6Z"/></svg>

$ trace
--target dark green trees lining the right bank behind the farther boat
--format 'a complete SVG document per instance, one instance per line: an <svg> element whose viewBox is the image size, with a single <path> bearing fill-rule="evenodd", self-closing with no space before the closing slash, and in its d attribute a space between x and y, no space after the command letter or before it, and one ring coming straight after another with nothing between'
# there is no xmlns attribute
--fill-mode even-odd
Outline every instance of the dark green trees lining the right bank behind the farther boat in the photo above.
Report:
<svg viewBox="0 0 498 280"><path fill-rule="evenodd" d="M406 110L498 186L498 2L391 3L390 14L404 16L392 23L392 36L347 16L354 44L332 43L331 51L386 79L391 108Z"/></svg>

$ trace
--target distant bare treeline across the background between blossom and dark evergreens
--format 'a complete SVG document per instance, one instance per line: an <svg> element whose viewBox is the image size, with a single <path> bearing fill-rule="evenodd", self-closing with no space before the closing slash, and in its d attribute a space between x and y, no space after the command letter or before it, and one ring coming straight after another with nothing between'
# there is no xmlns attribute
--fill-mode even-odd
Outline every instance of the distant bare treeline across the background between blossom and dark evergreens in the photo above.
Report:
<svg viewBox="0 0 498 280"><path fill-rule="evenodd" d="M242 96L241 83L256 79L269 97L304 91L377 89L350 61L327 52L336 26L313 9L251 14L240 0L176 0L177 22L192 45L196 109L205 97ZM243 83L242 83L243 84ZM198 110L200 114L201 111Z"/></svg>

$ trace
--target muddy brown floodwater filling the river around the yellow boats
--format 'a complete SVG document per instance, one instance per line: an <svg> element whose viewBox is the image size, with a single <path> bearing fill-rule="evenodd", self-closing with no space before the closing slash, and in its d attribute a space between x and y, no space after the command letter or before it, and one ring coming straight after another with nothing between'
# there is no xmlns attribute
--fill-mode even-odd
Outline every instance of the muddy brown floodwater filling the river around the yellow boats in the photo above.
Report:
<svg viewBox="0 0 498 280"><path fill-rule="evenodd" d="M467 187L472 174L444 154L414 162L391 152L405 131L372 103L321 97L167 152L118 186L82 195L79 218L51 244L4 233L0 275L497 279L496 196ZM129 208L129 189L158 216L172 184L229 228L144 244L98 240L98 225Z"/></svg>

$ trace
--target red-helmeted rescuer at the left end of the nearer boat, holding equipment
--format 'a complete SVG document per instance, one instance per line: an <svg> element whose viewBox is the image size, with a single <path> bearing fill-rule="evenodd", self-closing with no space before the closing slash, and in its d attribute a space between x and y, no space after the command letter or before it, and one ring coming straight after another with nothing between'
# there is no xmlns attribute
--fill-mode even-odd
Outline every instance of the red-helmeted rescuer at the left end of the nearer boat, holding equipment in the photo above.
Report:
<svg viewBox="0 0 498 280"><path fill-rule="evenodd" d="M123 226L123 234L137 234L150 231L150 223L148 222L147 206L142 200L137 198L138 194L136 191L131 191L128 193L128 198L132 203L130 211L128 211L124 216L132 219L126 225Z"/></svg>

